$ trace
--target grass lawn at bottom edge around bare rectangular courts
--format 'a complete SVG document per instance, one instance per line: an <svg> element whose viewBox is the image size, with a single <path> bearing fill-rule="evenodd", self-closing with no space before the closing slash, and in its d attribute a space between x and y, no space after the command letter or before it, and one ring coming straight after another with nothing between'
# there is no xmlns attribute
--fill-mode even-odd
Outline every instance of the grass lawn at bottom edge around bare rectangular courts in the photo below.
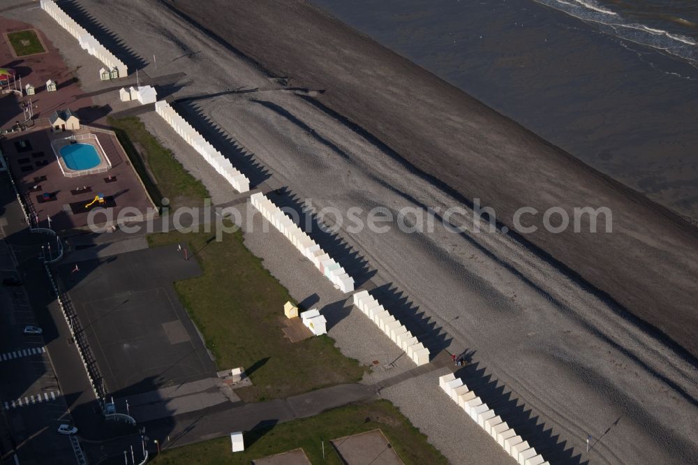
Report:
<svg viewBox="0 0 698 465"><path fill-rule="evenodd" d="M303 448L313 464L341 464L341 459L329 443L332 439L380 428L406 464L447 464L447 460L426 436L389 401L335 408L312 418L281 423L267 431L245 434L245 451L230 452L230 438L218 438L203 443L164 450L152 461L159 465L180 464L249 464L253 459ZM325 459L322 459L322 441Z"/></svg>

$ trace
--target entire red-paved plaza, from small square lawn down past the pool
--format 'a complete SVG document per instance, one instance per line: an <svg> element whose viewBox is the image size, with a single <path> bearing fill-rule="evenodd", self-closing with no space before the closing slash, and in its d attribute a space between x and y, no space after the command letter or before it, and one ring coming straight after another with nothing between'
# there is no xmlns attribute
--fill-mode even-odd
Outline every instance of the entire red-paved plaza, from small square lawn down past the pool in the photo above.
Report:
<svg viewBox="0 0 698 465"><path fill-rule="evenodd" d="M0 36L0 67L13 68L22 77L22 85L34 85L36 94L21 97L17 94L1 94L0 129L12 128L15 121L24 120L22 102L29 103L30 98L34 108L34 126L27 131L8 133L6 139L0 140L0 149L8 160L10 172L17 182L17 189L20 190L32 214L38 215L40 226L48 226L46 218L50 216L54 229L85 228L87 212L75 214L70 205L77 202L87 204L98 193L113 198L116 204L112 208L114 218L124 207L135 207L144 213L152 209L151 200L114 133L100 129L108 127L106 115L112 110L110 105L94 105L90 94L86 94L80 88L75 73L64 63L57 47L42 31L31 24L0 17L2 31L25 29L34 29L37 32L45 45L46 53L16 58L6 38ZM57 91L45 90L45 82L48 79L57 82ZM83 127L75 132L52 133L48 117L56 110L65 109L77 114ZM96 128L85 128L85 124ZM61 171L51 142L86 132L96 134L112 168L94 175L66 177ZM31 149L21 149L15 145L15 142L20 140L29 140ZM116 180L107 182L105 178L110 176ZM88 189L79 190L85 186ZM47 198L45 194L48 194Z"/></svg>

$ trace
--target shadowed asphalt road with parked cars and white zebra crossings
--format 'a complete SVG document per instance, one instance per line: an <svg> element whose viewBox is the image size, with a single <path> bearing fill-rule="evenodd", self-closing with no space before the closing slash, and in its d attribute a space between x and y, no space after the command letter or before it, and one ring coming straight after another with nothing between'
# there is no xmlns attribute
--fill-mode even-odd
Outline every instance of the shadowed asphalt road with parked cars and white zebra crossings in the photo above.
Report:
<svg viewBox="0 0 698 465"><path fill-rule="evenodd" d="M105 422L87 373L70 337L51 283L40 261L41 245L51 236L32 234L6 177L0 177L0 277L19 277L23 285L0 288L0 438L2 460L14 463L75 464L61 423L78 427L77 438L89 458L140 447L128 425ZM25 325L42 328L25 336Z"/></svg>

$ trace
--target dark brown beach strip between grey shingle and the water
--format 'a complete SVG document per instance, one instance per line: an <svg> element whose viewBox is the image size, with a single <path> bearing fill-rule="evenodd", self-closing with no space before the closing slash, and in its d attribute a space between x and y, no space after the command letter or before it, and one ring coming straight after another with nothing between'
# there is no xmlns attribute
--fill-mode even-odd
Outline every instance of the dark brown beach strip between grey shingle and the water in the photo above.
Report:
<svg viewBox="0 0 698 465"><path fill-rule="evenodd" d="M199 27L205 17L213 17L217 5L166 3ZM611 235L539 231L524 240L573 279L580 276L597 295L607 295L616 311L628 311L665 334L695 364L698 341L689 328L698 320L693 307L698 290L690 276L698 272L698 229L681 216L306 2L284 3L283 8L233 3L217 17L219 22L209 19L202 29L228 50L267 75L290 76L292 84L320 91L306 101L361 128L383 152L466 204L482 198L482 205L496 209L507 226L523 205L540 211L579 203L610 207L618 231ZM272 25L276 29L270 38L265 31ZM301 32L294 36L294 31ZM422 89L421 94L414 89ZM654 260L658 255L660 260ZM664 309L672 308L667 318Z"/></svg>

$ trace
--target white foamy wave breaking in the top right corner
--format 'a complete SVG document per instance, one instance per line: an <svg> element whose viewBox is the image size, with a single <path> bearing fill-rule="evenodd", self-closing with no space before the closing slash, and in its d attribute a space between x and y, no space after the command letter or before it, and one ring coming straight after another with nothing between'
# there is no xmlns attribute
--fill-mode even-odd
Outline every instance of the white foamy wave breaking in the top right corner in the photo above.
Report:
<svg viewBox="0 0 698 465"><path fill-rule="evenodd" d="M692 38L655 29L645 24L624 20L618 13L599 6L591 0L533 0L537 3L563 11L580 20L605 26L604 31L618 38L662 50L675 57L698 64L698 43Z"/></svg>

